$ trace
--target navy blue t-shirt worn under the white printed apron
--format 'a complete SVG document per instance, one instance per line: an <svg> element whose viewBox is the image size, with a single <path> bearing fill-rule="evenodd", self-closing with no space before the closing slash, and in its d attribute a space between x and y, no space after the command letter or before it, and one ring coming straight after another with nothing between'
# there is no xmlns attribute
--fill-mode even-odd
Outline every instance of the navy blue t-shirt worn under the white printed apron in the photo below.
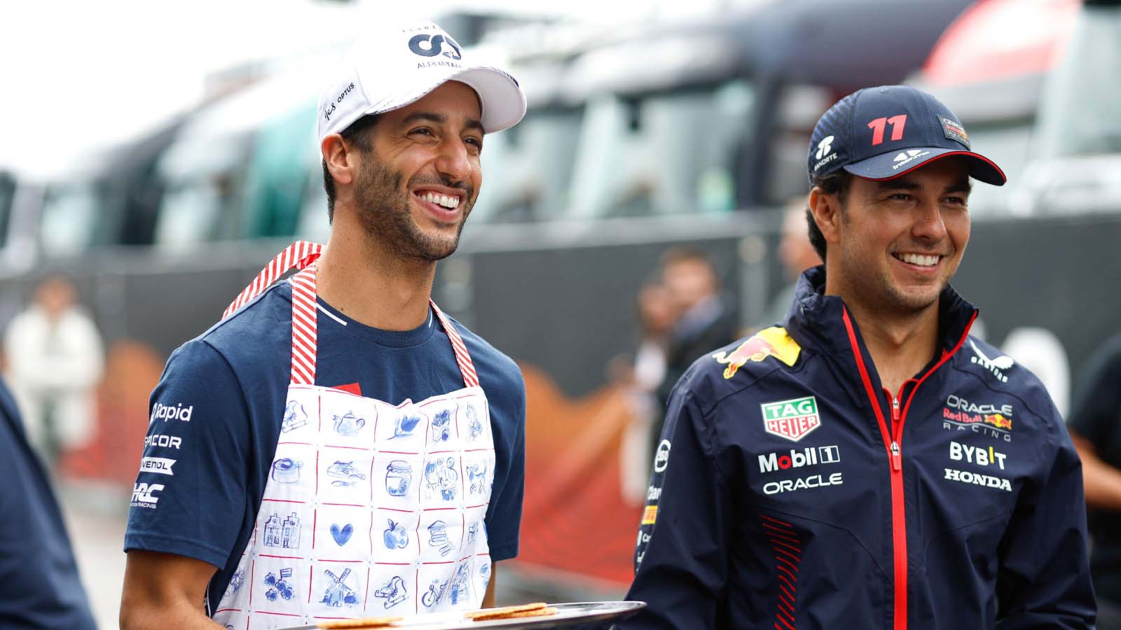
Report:
<svg viewBox="0 0 1121 630"><path fill-rule="evenodd" d="M518 555L525 480L525 382L517 364L455 324L487 393L494 484L491 558ZM319 300L315 383L400 405L464 387L452 343L429 309L419 327L362 325ZM143 463L124 549L188 556L219 567L217 604L253 531L276 452L291 367L291 285L278 282L176 350L149 406Z"/></svg>

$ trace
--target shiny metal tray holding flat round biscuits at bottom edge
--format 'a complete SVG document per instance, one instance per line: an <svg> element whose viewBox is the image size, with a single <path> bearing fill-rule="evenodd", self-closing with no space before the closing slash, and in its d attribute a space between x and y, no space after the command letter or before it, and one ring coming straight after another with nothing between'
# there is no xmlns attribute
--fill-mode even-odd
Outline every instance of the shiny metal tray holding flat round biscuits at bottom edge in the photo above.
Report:
<svg viewBox="0 0 1121 630"><path fill-rule="evenodd" d="M464 619L462 612L425 614L407 618L385 628L408 628L410 630L473 630L476 628L565 628L593 621L626 619L646 602L575 602L567 604L549 604L557 613L549 617L529 617L522 619L495 619L492 621L471 621ZM297 626L284 630L315 630L317 626Z"/></svg>

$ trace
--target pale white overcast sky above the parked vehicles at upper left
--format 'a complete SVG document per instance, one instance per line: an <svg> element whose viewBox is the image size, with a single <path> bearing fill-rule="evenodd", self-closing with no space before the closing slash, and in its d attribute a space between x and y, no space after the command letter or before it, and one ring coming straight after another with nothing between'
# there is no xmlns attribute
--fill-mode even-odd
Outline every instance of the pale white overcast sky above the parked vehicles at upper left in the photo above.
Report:
<svg viewBox="0 0 1121 630"><path fill-rule="evenodd" d="M577 19L673 17L734 0L565 0ZM406 8L401 8L406 4ZM362 24L520 0L31 0L0 8L0 167L46 174L189 106L209 73L344 39Z"/></svg>

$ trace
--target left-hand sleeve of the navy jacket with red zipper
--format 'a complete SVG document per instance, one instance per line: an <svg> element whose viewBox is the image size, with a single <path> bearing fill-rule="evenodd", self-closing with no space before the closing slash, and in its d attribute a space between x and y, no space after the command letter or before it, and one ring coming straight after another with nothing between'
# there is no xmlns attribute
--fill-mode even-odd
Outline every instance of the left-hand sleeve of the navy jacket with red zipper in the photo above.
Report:
<svg viewBox="0 0 1121 630"><path fill-rule="evenodd" d="M687 382L686 379L683 380ZM726 484L712 433L687 388L669 400L639 527L628 600L647 606L620 629L721 626L728 578Z"/></svg>

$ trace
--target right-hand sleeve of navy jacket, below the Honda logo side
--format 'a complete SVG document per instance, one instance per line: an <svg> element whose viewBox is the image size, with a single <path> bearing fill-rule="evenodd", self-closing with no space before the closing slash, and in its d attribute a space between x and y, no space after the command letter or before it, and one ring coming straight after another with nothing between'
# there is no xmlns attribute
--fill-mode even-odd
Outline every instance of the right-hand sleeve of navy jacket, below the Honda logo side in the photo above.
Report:
<svg viewBox="0 0 1121 630"><path fill-rule="evenodd" d="M1094 627L1082 462L1051 411L1048 474L1023 489L999 548L1000 630Z"/></svg>

